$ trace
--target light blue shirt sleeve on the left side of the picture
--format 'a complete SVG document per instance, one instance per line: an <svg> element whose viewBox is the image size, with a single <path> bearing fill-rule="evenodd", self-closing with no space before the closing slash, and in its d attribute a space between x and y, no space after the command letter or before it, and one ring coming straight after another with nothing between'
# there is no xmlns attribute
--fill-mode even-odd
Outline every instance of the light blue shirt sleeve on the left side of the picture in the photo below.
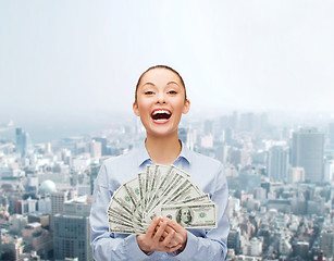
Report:
<svg viewBox="0 0 334 261"><path fill-rule="evenodd" d="M112 191L108 188L108 172L103 164L95 182L90 210L90 245L95 260L145 260L148 258L138 247L136 235L115 238L109 232L107 207Z"/></svg>

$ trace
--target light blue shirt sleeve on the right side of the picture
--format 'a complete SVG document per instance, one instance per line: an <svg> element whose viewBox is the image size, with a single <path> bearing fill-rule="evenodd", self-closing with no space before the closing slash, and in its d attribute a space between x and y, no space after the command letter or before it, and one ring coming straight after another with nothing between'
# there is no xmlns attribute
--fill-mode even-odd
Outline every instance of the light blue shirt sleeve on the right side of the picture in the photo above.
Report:
<svg viewBox="0 0 334 261"><path fill-rule="evenodd" d="M228 190L222 164L220 164L218 174L212 182L214 182L214 190L212 191L211 200L218 206L218 227L207 231L203 237L196 236L188 231L185 249L175 256L180 261L225 260L227 252L227 235L230 232L227 220Z"/></svg>

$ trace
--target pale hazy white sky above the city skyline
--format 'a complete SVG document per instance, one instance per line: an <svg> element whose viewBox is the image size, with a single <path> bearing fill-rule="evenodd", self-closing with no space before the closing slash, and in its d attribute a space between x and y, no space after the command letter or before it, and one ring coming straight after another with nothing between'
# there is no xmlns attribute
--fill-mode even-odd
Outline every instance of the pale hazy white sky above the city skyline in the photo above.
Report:
<svg viewBox="0 0 334 261"><path fill-rule="evenodd" d="M334 1L0 1L0 122L132 113L139 75L183 76L193 114L334 113Z"/></svg>

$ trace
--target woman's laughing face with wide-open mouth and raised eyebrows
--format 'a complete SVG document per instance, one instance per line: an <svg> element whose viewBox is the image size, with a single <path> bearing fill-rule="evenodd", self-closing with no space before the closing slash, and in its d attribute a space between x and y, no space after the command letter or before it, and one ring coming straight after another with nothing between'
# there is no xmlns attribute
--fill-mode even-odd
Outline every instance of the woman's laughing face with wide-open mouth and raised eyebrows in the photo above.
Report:
<svg viewBox="0 0 334 261"><path fill-rule="evenodd" d="M185 88L171 70L156 67L146 72L137 87L134 113L140 116L147 135L177 135L181 116L189 111Z"/></svg>

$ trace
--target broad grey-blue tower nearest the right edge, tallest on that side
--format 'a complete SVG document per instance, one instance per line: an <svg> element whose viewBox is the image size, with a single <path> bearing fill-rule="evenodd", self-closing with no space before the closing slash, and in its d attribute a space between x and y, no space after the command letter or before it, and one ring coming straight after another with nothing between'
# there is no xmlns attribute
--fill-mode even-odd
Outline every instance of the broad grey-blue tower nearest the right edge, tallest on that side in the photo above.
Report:
<svg viewBox="0 0 334 261"><path fill-rule="evenodd" d="M301 128L293 134L293 166L302 166L307 182L323 181L324 134L317 128Z"/></svg>

